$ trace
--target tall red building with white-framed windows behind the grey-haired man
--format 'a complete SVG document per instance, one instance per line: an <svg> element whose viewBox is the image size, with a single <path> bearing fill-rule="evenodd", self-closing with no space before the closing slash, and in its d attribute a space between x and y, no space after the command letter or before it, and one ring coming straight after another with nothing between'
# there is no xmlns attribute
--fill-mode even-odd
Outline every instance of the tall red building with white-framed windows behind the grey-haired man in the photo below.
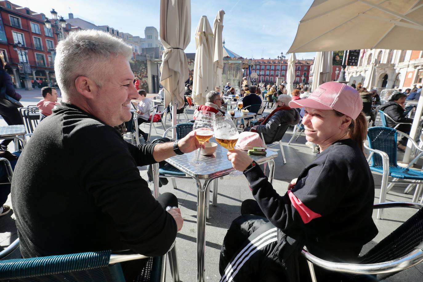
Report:
<svg viewBox="0 0 423 282"><path fill-rule="evenodd" d="M59 28L59 19L50 19L53 26L47 29L44 14L10 1L0 2L0 16L0 52L7 62L5 69L16 88L25 87L25 64L30 66L29 79L41 80L42 85L54 85L55 47L58 39L65 38L72 26L66 24L64 28ZM21 44L20 49L18 43Z"/></svg>

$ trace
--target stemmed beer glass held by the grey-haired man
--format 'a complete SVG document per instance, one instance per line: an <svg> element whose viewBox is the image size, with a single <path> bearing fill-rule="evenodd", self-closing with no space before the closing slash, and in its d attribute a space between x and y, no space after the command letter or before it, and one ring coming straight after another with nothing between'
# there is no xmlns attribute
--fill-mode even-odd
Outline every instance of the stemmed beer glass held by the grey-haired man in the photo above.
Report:
<svg viewBox="0 0 423 282"><path fill-rule="evenodd" d="M195 131L195 138L197 138L198 142L201 145L209 141L209 139L213 136L213 121L214 112L198 112L198 115L195 118L194 125L192 126L192 130ZM204 162L200 161L200 151L201 148L198 148L197 160L190 162L190 164L196 167L199 167L204 164Z"/></svg>

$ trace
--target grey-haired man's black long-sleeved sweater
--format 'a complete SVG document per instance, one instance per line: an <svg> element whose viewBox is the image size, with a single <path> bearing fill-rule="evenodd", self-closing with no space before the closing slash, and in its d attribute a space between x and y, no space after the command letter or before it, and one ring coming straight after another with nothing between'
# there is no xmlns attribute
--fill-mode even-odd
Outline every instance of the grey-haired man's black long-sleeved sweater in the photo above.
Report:
<svg viewBox="0 0 423 282"><path fill-rule="evenodd" d="M13 175L23 257L107 249L165 254L176 222L137 169L155 162L154 145L131 145L73 105L56 108L38 125Z"/></svg>

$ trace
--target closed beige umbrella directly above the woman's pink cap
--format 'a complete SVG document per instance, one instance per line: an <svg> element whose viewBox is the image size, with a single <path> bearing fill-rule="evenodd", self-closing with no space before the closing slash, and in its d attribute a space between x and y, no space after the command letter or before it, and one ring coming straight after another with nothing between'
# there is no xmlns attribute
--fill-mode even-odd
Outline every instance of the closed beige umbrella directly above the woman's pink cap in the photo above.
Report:
<svg viewBox="0 0 423 282"><path fill-rule="evenodd" d="M332 76L332 52L316 52L316 58L313 63L313 92L319 85L331 81Z"/></svg>

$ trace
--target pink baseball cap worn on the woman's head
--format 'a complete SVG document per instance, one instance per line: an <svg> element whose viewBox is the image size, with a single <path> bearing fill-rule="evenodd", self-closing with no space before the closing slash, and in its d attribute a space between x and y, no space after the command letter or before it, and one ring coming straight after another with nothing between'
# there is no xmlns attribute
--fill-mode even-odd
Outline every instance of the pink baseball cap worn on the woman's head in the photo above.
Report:
<svg viewBox="0 0 423 282"><path fill-rule="evenodd" d="M351 86L330 81L319 85L307 99L290 101L289 107L335 110L355 120L363 110L363 101Z"/></svg>

